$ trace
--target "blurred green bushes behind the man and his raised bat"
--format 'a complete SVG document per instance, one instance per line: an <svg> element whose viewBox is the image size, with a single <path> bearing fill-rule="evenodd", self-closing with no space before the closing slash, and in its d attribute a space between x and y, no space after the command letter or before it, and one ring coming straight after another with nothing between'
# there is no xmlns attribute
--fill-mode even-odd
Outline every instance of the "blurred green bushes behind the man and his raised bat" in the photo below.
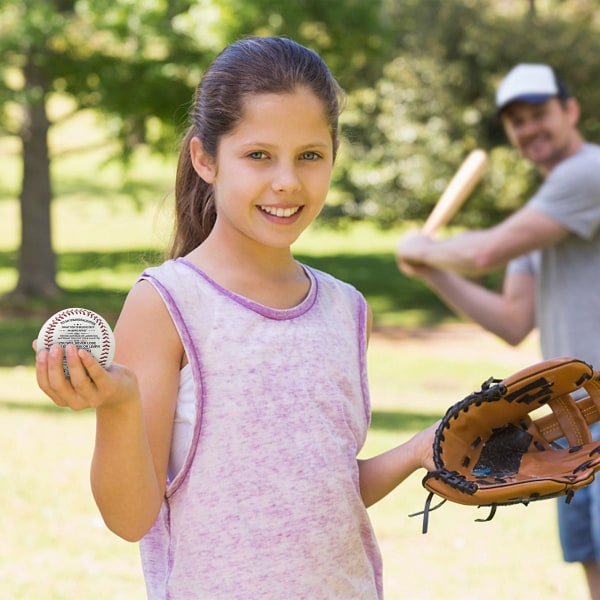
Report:
<svg viewBox="0 0 600 600"><path fill-rule="evenodd" d="M490 168L456 222L489 226L518 208L540 176L508 147L494 93L519 62L555 66L580 100L583 133L598 139L600 88L590 83L600 71L586 60L600 51L597 7L513 4L388 3L394 55L375 87L351 95L335 214L382 226L422 220L476 147L490 151Z"/></svg>

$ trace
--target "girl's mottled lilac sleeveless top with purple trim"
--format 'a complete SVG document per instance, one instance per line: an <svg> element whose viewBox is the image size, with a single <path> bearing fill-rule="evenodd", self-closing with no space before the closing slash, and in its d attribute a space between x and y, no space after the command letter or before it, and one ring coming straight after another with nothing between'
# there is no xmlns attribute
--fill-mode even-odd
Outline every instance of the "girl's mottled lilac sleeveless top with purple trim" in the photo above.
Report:
<svg viewBox="0 0 600 600"><path fill-rule="evenodd" d="M146 270L193 376L194 428L140 542L148 598L382 598L359 492L370 421L366 302L304 267L310 291L278 310L185 259Z"/></svg>

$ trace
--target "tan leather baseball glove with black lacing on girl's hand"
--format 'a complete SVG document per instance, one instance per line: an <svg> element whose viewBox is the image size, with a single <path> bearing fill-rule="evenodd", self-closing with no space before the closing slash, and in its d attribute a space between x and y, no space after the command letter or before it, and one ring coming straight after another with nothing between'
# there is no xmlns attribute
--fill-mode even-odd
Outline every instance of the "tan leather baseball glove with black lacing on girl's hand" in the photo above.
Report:
<svg viewBox="0 0 600 600"><path fill-rule="evenodd" d="M532 412L544 405L550 410L535 418ZM439 423L436 470L423 479L430 493L416 513L423 515L423 533L429 512L446 500L489 506L480 521L489 521L499 505L559 496L569 502L600 469L600 441L589 428L598 420L600 374L582 360L548 360L507 379L488 379ZM432 508L434 495L443 500Z"/></svg>

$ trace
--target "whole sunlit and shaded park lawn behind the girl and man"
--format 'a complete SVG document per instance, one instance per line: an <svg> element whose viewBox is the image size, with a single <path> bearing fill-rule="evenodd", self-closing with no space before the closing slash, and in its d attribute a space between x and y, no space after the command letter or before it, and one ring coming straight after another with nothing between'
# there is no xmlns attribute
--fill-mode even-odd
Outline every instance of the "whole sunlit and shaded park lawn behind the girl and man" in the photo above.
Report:
<svg viewBox="0 0 600 600"><path fill-rule="evenodd" d="M168 186L149 179L157 200L136 204L120 193L114 172L107 192L80 167L81 159L60 165L53 209L67 292L53 302L0 306L0 581L2 596L15 600L144 598L137 546L107 531L87 483L93 413L55 408L43 396L30 342L44 318L65 306L92 308L114 323L127 290L168 239ZM13 172L0 188L0 294L16 281ZM142 186L140 194L148 193ZM314 227L295 248L300 260L354 283L374 308L373 420L364 456L397 445L489 375L510 374L537 355L535 339L510 349L457 325L423 286L400 276L392 255L397 235L365 225ZM420 519L408 517L426 497L421 476L370 509L388 600L585 597L579 566L561 560L553 502L500 509L490 523L474 522L482 511L446 504L422 535Z"/></svg>

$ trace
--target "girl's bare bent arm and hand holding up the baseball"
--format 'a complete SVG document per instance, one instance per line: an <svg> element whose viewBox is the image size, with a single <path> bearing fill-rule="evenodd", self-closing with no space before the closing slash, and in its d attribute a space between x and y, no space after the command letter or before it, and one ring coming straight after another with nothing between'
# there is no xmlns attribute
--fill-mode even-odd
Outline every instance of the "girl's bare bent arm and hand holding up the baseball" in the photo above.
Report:
<svg viewBox="0 0 600 600"><path fill-rule="evenodd" d="M74 346L66 349L70 380L62 372L59 346L38 355L36 371L56 404L96 409L92 491L107 526L137 541L156 520L165 493L183 349L147 282L130 292L115 339L115 363L108 371Z"/></svg>

